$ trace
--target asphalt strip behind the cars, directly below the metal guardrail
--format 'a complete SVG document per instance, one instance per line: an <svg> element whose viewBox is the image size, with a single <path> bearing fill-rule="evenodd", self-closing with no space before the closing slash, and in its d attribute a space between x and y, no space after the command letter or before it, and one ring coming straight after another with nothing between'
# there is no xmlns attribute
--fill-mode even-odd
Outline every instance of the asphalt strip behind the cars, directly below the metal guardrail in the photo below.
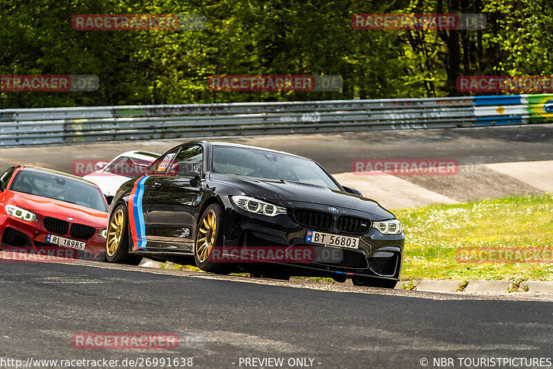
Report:
<svg viewBox="0 0 553 369"><path fill-rule="evenodd" d="M355 159L450 159L487 164L553 159L553 124L223 138L312 158L330 173L351 171ZM0 149L0 170L35 164L71 173L75 160L109 161L128 150L163 153L187 139L103 142Z"/></svg>

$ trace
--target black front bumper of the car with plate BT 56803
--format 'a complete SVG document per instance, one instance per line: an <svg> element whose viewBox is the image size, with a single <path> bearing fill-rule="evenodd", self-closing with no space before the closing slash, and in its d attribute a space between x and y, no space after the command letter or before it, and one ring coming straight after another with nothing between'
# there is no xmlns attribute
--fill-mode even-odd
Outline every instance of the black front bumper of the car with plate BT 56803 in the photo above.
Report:
<svg viewBox="0 0 553 369"><path fill-rule="evenodd" d="M326 205L321 205L321 208ZM317 205L313 207L317 209ZM355 216L369 218L368 214L353 212ZM371 228L364 234L348 234L334 228L318 229L301 225L295 220L292 211L274 217L252 214L236 208L229 202L225 206L225 236L226 247L238 249L252 249L256 247L313 247L315 254L324 253L324 249L333 249L338 252L333 257L326 259L317 257L308 262L279 262L252 265L244 263L244 269L263 267L272 269L293 269L294 275L306 276L332 276L337 274L351 276L373 276L377 278L398 280L402 269L402 257L404 249L404 234L385 235L377 229ZM325 245L306 242L308 231L320 231L337 236L350 236L359 238L357 249L344 247L329 247ZM234 246L233 246L234 245ZM341 257L340 257L341 256ZM239 262L239 261L238 261Z"/></svg>

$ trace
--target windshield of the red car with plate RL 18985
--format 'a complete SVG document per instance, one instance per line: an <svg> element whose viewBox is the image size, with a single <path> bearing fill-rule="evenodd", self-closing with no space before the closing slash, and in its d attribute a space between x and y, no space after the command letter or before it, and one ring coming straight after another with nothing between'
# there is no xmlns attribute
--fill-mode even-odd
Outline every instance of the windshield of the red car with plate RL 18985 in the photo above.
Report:
<svg viewBox="0 0 553 369"><path fill-rule="evenodd" d="M54 173L20 171L10 190L108 211L100 189L81 180Z"/></svg>

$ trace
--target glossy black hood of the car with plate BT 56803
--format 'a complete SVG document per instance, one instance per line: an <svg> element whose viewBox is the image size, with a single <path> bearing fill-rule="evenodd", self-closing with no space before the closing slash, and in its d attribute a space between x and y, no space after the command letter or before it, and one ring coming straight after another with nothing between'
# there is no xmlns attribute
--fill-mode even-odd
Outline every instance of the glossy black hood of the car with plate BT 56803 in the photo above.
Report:
<svg viewBox="0 0 553 369"><path fill-rule="evenodd" d="M263 180L261 178L221 174L212 175L210 178L232 185L243 191L247 196L260 200L271 200L277 205L284 205L285 202L304 202L306 204L364 211L381 219L395 218L390 211L384 209L375 200L357 196L353 193L332 190L328 187L285 180Z"/></svg>

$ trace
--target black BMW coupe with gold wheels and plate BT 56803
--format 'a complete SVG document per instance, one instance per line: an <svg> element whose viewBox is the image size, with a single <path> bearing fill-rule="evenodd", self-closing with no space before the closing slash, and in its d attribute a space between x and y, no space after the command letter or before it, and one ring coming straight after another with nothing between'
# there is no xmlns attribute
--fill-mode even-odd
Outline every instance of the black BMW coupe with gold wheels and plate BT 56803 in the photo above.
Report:
<svg viewBox="0 0 553 369"><path fill-rule="evenodd" d="M131 165L138 165L133 162ZM208 272L330 276L394 287L395 216L307 158L229 142L181 144L124 183L110 209L112 263L191 263Z"/></svg>

